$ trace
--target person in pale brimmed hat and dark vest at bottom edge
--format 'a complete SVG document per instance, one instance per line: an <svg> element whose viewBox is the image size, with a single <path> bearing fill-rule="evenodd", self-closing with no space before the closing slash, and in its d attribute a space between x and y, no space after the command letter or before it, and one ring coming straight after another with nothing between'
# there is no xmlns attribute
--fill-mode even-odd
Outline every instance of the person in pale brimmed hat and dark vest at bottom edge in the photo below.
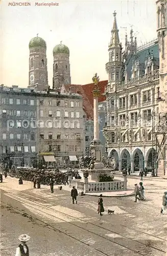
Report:
<svg viewBox="0 0 167 256"><path fill-rule="evenodd" d="M20 240L21 243L16 249L15 256L29 256L29 247L27 246L26 242L30 240L30 237L27 234L21 234L18 240Z"/></svg>

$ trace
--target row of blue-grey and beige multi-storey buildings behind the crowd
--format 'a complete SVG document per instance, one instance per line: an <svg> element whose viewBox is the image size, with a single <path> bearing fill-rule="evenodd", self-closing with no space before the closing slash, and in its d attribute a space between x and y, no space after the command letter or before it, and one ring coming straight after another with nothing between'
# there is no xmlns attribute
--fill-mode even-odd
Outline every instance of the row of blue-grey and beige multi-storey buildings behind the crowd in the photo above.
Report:
<svg viewBox="0 0 167 256"><path fill-rule="evenodd" d="M0 106L1 162L32 166L45 160L54 165L78 161L84 154L87 137L79 94L1 86Z"/></svg>

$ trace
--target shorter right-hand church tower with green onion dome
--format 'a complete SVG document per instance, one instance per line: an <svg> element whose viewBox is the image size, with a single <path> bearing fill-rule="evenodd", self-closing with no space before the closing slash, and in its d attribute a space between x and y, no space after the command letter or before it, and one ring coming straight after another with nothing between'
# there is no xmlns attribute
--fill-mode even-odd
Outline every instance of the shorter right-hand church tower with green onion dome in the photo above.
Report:
<svg viewBox="0 0 167 256"><path fill-rule="evenodd" d="M53 89L58 89L71 83L68 47L60 42L53 49L53 57Z"/></svg>

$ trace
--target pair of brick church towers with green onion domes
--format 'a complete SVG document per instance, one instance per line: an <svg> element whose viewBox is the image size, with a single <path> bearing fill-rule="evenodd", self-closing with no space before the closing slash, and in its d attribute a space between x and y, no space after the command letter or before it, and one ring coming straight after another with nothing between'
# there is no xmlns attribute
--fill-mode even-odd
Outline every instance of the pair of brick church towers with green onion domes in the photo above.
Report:
<svg viewBox="0 0 167 256"><path fill-rule="evenodd" d="M29 88L47 90L46 42L37 34L30 40L29 50ZM71 83L68 47L60 42L53 49L53 57L53 89L58 89L62 84Z"/></svg>

